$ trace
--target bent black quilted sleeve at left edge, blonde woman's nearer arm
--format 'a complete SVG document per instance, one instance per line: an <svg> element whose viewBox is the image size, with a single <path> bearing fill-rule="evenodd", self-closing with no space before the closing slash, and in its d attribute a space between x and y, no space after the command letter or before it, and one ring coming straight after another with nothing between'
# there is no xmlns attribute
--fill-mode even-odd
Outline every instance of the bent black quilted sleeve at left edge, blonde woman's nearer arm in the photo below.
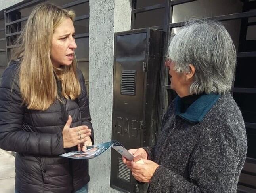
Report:
<svg viewBox="0 0 256 193"><path fill-rule="evenodd" d="M26 132L22 130L25 106L22 105L17 65L10 65L0 83L0 148L33 155L59 155L63 146L56 148L62 135ZM59 143L61 144L61 143Z"/></svg>

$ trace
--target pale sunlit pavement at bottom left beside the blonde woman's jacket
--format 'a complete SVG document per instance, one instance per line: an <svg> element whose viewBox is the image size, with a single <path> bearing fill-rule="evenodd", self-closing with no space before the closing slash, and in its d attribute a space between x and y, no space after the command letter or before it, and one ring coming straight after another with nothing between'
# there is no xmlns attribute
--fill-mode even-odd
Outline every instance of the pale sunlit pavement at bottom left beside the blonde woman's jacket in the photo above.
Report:
<svg viewBox="0 0 256 193"><path fill-rule="evenodd" d="M0 192L14 193L15 157L10 151L0 149Z"/></svg>

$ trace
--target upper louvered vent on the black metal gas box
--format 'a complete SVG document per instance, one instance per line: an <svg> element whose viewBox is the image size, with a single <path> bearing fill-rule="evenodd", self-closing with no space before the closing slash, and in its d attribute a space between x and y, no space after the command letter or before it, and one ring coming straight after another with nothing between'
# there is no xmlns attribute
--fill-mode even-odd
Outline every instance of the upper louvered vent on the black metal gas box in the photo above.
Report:
<svg viewBox="0 0 256 193"><path fill-rule="evenodd" d="M122 70L121 95L135 95L136 70Z"/></svg>

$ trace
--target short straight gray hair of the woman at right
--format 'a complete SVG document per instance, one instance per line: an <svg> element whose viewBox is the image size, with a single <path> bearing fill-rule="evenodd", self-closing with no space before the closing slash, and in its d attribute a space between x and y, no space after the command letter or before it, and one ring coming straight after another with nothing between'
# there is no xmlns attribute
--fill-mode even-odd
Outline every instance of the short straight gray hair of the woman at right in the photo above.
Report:
<svg viewBox="0 0 256 193"><path fill-rule="evenodd" d="M195 66L190 94L224 94L231 90L236 51L225 27L215 21L192 21L170 40L166 56L178 73Z"/></svg>

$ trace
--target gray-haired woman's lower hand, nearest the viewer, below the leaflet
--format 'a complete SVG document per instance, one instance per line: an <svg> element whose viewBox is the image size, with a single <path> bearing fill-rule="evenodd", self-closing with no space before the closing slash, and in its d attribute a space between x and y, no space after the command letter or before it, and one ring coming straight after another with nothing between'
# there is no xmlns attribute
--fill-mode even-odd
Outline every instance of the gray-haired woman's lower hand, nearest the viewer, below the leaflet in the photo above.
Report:
<svg viewBox="0 0 256 193"><path fill-rule="evenodd" d="M139 182L149 182L159 165L151 160L143 159L144 164L132 161L132 175Z"/></svg>

